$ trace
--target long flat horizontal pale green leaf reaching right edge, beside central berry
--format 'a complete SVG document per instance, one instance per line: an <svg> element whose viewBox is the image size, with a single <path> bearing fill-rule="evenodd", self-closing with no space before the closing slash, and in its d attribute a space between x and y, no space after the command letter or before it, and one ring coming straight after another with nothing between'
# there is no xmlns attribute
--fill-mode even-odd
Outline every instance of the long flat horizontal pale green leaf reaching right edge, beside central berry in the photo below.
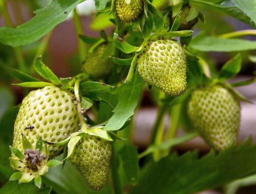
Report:
<svg viewBox="0 0 256 194"><path fill-rule="evenodd" d="M191 48L198 51L239 52L256 49L256 41L241 40L236 38L205 37L200 34L189 43Z"/></svg>

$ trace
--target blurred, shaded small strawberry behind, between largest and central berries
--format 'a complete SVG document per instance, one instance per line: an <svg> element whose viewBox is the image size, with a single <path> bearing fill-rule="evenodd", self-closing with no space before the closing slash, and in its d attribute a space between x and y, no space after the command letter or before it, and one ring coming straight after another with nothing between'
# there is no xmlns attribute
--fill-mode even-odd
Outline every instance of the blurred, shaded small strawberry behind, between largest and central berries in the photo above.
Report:
<svg viewBox="0 0 256 194"><path fill-rule="evenodd" d="M105 43L100 44L92 53L88 53L83 69L96 78L101 78L110 73L112 64L108 57L102 56L106 49Z"/></svg>

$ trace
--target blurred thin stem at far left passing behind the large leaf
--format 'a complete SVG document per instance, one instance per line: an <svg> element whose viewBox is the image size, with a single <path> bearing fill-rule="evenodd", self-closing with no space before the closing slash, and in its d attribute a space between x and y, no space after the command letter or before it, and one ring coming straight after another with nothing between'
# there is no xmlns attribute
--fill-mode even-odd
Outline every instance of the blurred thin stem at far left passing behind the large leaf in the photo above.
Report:
<svg viewBox="0 0 256 194"><path fill-rule="evenodd" d="M13 23L8 12L7 2L4 3L3 16L7 27L13 27ZM13 47L19 69L23 72L26 71L26 64L23 58L22 50L20 47Z"/></svg>

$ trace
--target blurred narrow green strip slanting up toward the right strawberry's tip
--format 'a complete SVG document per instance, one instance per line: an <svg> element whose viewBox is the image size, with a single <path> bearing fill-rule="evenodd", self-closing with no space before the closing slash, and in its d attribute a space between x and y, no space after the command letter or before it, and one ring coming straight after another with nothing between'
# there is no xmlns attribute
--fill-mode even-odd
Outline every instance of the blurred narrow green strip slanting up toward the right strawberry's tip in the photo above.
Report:
<svg viewBox="0 0 256 194"><path fill-rule="evenodd" d="M144 152L142 152L140 155L139 155L139 158L142 158L148 154L151 154L155 151L159 151L159 150L166 150L166 149L170 149L180 143L183 143L185 141L188 141L190 139L193 139L195 137L197 137L198 134L197 133L190 133L190 134L187 134L187 135L184 135L182 137L177 137L175 139L169 139L167 141L164 141L160 144L157 144L157 145L152 145L150 147L148 147Z"/></svg>

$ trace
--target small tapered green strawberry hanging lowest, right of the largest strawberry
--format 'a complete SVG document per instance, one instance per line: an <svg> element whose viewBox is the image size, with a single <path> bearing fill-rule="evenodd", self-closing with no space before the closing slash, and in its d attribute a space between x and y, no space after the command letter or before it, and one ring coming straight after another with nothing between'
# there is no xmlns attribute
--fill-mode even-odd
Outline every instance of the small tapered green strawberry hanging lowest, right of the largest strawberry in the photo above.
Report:
<svg viewBox="0 0 256 194"><path fill-rule="evenodd" d="M108 179L111 156L111 141L84 135L71 156L71 163L93 190L100 190Z"/></svg>

